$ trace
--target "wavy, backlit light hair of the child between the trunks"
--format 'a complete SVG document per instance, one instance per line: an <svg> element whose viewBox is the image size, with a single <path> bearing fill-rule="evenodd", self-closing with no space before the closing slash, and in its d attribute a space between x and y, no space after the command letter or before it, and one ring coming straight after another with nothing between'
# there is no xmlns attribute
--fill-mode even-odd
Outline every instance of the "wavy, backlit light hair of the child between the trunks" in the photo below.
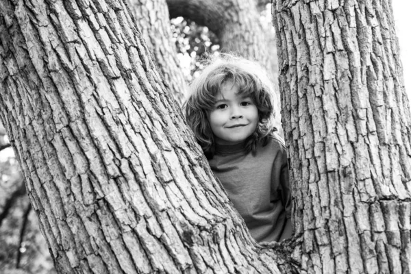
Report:
<svg viewBox="0 0 411 274"><path fill-rule="evenodd" d="M245 58L220 54L206 60L208 66L190 84L190 94L183 105L186 121L208 159L214 156L214 134L208 113L214 108L223 84L238 86L238 95L251 97L258 108L258 126L247 139L247 151L255 151L259 142L266 145L273 126L273 87L261 66Z"/></svg>

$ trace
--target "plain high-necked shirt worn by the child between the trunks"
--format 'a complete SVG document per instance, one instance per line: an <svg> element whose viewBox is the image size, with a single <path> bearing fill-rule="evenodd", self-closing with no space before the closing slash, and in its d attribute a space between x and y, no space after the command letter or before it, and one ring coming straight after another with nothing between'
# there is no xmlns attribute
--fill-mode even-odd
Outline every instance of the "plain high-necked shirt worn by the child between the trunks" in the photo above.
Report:
<svg viewBox="0 0 411 274"><path fill-rule="evenodd" d="M284 140L277 134L256 152L244 143L216 145L209 160L216 177L258 242L291 238L291 195Z"/></svg>

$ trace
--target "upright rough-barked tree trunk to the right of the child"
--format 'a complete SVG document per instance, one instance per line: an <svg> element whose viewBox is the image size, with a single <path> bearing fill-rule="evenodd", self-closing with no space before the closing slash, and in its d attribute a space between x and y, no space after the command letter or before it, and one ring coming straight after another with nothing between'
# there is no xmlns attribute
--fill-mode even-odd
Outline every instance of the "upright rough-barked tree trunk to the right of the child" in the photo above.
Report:
<svg viewBox="0 0 411 274"><path fill-rule="evenodd" d="M273 5L307 273L410 273L410 111L388 0Z"/></svg>

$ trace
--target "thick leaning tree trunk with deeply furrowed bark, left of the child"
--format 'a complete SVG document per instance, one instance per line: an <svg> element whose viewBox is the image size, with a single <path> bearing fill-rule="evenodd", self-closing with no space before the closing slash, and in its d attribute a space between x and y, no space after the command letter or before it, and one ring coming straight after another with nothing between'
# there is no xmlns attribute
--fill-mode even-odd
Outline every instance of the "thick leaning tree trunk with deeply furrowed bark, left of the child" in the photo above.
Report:
<svg viewBox="0 0 411 274"><path fill-rule="evenodd" d="M59 273L279 273L123 1L1 1L0 117Z"/></svg>

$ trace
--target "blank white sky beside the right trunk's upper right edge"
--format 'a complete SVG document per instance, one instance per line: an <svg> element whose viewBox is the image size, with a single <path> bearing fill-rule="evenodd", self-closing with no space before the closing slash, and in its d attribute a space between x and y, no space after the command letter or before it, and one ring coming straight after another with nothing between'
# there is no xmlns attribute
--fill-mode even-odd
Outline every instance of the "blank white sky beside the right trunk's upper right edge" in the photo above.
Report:
<svg viewBox="0 0 411 274"><path fill-rule="evenodd" d="M393 0L394 21L399 40L399 55L403 65L404 83L408 99L411 101L411 1ZM408 34L406 34L408 28Z"/></svg>

